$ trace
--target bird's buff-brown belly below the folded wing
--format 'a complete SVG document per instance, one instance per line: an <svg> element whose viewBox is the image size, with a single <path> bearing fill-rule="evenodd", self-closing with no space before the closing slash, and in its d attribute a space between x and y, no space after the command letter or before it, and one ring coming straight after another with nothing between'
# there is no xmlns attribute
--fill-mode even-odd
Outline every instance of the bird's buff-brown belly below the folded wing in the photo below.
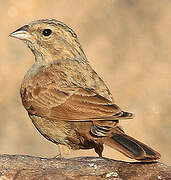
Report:
<svg viewBox="0 0 171 180"><path fill-rule="evenodd" d="M71 149L91 149L94 138L90 135L92 122L68 122L46 119L35 115L30 118L36 129L49 141Z"/></svg>

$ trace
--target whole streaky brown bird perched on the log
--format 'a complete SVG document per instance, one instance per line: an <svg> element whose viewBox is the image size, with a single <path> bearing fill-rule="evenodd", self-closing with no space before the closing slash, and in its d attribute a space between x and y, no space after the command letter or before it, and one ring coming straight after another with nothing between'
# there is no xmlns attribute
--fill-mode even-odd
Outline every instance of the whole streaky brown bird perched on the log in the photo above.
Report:
<svg viewBox="0 0 171 180"><path fill-rule="evenodd" d="M133 114L114 103L71 28L55 19L37 20L10 36L23 40L35 56L20 93L29 117L46 139L74 150L94 148L99 156L106 144L132 159L160 158L119 127L119 120Z"/></svg>

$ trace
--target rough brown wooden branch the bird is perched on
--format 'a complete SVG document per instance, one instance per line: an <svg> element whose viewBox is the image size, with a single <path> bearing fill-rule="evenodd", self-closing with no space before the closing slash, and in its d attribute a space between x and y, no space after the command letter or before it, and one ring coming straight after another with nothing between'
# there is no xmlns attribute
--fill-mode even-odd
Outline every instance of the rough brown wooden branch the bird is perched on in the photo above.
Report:
<svg viewBox="0 0 171 180"><path fill-rule="evenodd" d="M50 159L26 155L0 155L0 179L164 180L170 178L171 167L159 162L128 163L98 157Z"/></svg>

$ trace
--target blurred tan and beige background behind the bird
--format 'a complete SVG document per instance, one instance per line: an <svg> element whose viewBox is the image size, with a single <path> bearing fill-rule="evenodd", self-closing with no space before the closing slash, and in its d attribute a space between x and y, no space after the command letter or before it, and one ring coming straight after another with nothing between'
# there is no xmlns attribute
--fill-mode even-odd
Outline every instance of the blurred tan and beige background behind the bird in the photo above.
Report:
<svg viewBox="0 0 171 180"><path fill-rule="evenodd" d="M57 155L33 127L20 100L21 81L34 62L8 35L30 21L55 18L78 35L92 67L116 103L134 112L121 126L171 164L171 1L0 0L0 154ZM74 151L69 157L96 155ZM105 147L105 157L127 160Z"/></svg>

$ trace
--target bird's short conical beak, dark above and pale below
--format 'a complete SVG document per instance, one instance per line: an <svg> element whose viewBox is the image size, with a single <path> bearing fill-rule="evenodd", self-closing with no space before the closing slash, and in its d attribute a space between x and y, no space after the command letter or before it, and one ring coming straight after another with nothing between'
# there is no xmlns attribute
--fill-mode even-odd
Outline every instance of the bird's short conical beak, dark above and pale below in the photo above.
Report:
<svg viewBox="0 0 171 180"><path fill-rule="evenodd" d="M17 39L21 39L21 40L30 40L31 35L27 30L28 30L28 25L25 25L17 29L16 31L12 32L9 36L17 38Z"/></svg>

